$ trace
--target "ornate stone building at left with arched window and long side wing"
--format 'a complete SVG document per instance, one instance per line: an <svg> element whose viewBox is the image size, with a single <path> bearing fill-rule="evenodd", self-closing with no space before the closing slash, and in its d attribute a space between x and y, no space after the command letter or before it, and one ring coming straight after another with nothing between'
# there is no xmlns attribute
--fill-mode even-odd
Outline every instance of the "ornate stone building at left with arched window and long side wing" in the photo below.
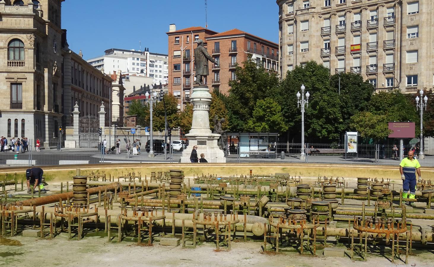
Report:
<svg viewBox="0 0 434 267"><path fill-rule="evenodd" d="M112 79L68 48L64 0L0 0L0 135L56 147L72 106L82 115L109 108ZM98 105L97 105L98 104ZM107 125L109 119L107 118Z"/></svg>

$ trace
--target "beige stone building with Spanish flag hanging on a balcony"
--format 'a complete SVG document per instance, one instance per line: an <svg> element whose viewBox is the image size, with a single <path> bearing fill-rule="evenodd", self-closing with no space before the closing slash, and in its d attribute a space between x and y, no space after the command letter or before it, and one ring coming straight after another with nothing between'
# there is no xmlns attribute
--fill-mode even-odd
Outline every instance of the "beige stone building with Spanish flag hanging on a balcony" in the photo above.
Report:
<svg viewBox="0 0 434 267"><path fill-rule="evenodd" d="M309 60L378 90L433 88L432 0L277 0L280 73ZM426 26L422 26L426 25Z"/></svg>

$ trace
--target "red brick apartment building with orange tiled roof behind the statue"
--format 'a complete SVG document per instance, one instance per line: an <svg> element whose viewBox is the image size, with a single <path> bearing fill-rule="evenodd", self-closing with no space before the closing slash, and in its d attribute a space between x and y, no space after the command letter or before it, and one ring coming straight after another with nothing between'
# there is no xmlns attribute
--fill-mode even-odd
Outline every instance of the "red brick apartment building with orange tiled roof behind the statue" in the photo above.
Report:
<svg viewBox="0 0 434 267"><path fill-rule="evenodd" d="M194 86L194 49L197 40L204 40L208 53L217 60L209 63L207 85L210 89L227 94L229 81L236 79L235 67L248 58L268 70L279 69L279 46L276 43L238 29L217 33L203 27L176 30L171 24L168 34L169 92L179 99L178 109L183 110Z"/></svg>

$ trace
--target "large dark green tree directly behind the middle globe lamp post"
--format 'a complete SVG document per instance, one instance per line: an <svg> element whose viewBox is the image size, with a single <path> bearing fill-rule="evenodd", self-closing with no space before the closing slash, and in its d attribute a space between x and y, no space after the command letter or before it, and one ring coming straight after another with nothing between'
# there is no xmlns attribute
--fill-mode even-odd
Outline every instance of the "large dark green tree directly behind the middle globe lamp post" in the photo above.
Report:
<svg viewBox="0 0 434 267"><path fill-rule="evenodd" d="M288 139L299 138L301 132L301 112L297 107L296 93L302 84L306 87L305 93L309 91L311 95L305 112L305 135L309 136L310 142L338 140L343 130L338 92L330 86L330 70L315 61L287 72L273 96L282 107L289 129Z"/></svg>

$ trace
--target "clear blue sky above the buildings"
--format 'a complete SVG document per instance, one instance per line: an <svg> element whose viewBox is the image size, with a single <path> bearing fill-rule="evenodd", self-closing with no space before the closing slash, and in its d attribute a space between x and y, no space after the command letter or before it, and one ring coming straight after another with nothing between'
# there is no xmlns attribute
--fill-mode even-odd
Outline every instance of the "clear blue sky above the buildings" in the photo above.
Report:
<svg viewBox="0 0 434 267"><path fill-rule="evenodd" d="M123 3L123 6L120 4ZM69 48L89 59L109 48L168 52L169 24L177 30L205 26L204 0L66 0L62 29ZM275 0L208 0L208 29L237 28L278 43L279 8ZM197 16L194 15L197 13Z"/></svg>

